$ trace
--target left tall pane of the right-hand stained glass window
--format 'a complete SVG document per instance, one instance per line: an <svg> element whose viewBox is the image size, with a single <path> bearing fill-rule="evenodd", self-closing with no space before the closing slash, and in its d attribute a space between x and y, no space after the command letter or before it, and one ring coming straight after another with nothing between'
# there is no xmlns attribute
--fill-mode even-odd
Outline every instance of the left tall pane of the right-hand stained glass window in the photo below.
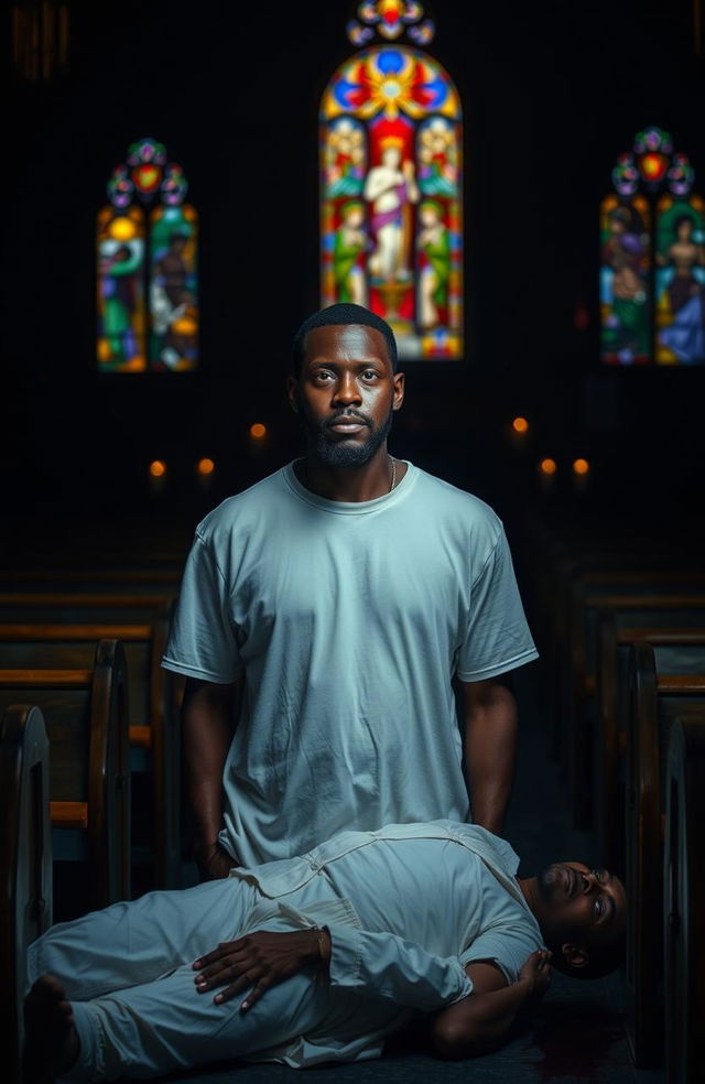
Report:
<svg viewBox="0 0 705 1084"><path fill-rule="evenodd" d="M601 356L644 365L651 356L651 216L643 196L607 196L600 209Z"/></svg>

